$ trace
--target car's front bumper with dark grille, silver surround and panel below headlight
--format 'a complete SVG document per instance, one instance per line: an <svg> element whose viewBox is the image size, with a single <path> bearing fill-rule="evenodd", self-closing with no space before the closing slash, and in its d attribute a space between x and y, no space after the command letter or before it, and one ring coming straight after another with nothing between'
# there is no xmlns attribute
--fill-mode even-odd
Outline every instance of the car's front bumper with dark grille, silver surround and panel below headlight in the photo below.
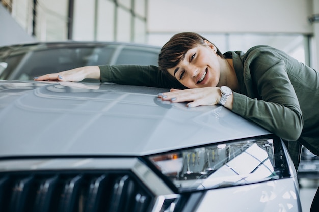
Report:
<svg viewBox="0 0 319 212"><path fill-rule="evenodd" d="M1 211L301 211L294 178L177 194L139 158L0 161Z"/></svg>

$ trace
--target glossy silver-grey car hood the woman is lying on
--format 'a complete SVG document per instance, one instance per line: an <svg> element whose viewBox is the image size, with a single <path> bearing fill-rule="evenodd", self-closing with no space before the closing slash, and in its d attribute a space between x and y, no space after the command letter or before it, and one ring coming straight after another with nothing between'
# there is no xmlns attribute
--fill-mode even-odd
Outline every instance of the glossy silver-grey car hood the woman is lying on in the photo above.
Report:
<svg viewBox="0 0 319 212"><path fill-rule="evenodd" d="M0 82L0 157L141 156L269 134L222 106L161 101L165 89Z"/></svg>

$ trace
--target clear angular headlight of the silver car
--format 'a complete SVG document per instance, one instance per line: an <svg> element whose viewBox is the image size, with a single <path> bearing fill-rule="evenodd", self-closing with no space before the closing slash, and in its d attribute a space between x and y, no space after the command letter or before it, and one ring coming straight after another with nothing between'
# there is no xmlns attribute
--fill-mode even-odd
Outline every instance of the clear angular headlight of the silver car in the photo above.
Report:
<svg viewBox="0 0 319 212"><path fill-rule="evenodd" d="M148 156L179 190L237 186L290 176L281 140L255 138Z"/></svg>

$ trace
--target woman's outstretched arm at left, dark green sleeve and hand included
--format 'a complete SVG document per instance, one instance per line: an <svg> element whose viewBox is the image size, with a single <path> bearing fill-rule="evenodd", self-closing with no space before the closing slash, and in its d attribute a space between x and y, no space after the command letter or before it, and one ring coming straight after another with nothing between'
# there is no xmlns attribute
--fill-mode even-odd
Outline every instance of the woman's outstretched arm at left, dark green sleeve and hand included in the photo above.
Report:
<svg viewBox="0 0 319 212"><path fill-rule="evenodd" d="M86 78L126 85L185 89L176 79L157 66L101 65L84 66L34 78L37 81L59 80L79 82Z"/></svg>

